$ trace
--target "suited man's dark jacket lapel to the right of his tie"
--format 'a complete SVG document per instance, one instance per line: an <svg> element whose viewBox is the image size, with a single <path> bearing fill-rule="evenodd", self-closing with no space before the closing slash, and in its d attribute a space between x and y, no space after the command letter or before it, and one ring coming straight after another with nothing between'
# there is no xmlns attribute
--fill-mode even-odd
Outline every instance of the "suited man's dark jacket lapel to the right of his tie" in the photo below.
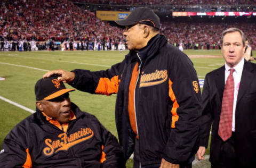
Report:
<svg viewBox="0 0 256 168"><path fill-rule="evenodd" d="M244 62L244 68L242 72L242 77L240 81L240 86L238 90L238 96L237 96L237 103L239 103L239 100L243 97L243 95L246 93L246 90L249 88L251 82L252 82L252 71L253 68L250 65L249 62L245 61Z"/></svg>

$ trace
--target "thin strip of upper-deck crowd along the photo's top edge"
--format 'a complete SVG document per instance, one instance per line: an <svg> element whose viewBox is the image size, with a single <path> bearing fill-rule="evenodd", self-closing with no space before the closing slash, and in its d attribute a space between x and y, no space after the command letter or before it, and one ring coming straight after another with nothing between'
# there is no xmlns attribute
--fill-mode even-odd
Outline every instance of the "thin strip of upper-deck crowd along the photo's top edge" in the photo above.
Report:
<svg viewBox="0 0 256 168"><path fill-rule="evenodd" d="M255 5L254 0L73 0L90 4L109 5Z"/></svg>

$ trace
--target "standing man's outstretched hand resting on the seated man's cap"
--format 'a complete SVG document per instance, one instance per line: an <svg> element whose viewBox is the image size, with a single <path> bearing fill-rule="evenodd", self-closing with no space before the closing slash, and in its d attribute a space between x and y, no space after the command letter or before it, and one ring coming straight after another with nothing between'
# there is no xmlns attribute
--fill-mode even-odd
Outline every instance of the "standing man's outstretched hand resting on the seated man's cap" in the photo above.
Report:
<svg viewBox="0 0 256 168"><path fill-rule="evenodd" d="M74 72L69 72L69 71L66 71L66 70L53 70L53 71L46 72L43 75L43 78L49 78L54 74L59 76L58 77L59 81L63 81L63 82L66 82L66 83L69 83L69 82L71 82L75 79L75 73Z"/></svg>

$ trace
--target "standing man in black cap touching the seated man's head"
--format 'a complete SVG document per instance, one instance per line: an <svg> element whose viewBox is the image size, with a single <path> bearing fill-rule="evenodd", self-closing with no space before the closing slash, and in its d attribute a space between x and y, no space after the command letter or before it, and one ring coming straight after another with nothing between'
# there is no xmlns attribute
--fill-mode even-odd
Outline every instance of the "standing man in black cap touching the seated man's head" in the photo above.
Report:
<svg viewBox="0 0 256 168"><path fill-rule="evenodd" d="M125 20L127 48L105 71L54 70L59 80L91 94L117 94L116 127L134 167L191 167L197 150L201 94L192 62L159 35L153 10L139 7Z"/></svg>

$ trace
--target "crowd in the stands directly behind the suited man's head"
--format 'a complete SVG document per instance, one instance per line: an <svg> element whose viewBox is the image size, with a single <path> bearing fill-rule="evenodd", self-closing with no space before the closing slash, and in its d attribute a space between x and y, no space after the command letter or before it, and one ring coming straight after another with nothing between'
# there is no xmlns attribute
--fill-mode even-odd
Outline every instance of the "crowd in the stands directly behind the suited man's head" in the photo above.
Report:
<svg viewBox="0 0 256 168"><path fill-rule="evenodd" d="M188 48L211 47L220 48L221 32L227 28L236 27L245 32L253 49L256 48L256 23L177 23L165 22L161 31L169 43L178 46L181 42ZM200 48L201 49L201 48ZM206 49L206 48L204 48Z"/></svg>

